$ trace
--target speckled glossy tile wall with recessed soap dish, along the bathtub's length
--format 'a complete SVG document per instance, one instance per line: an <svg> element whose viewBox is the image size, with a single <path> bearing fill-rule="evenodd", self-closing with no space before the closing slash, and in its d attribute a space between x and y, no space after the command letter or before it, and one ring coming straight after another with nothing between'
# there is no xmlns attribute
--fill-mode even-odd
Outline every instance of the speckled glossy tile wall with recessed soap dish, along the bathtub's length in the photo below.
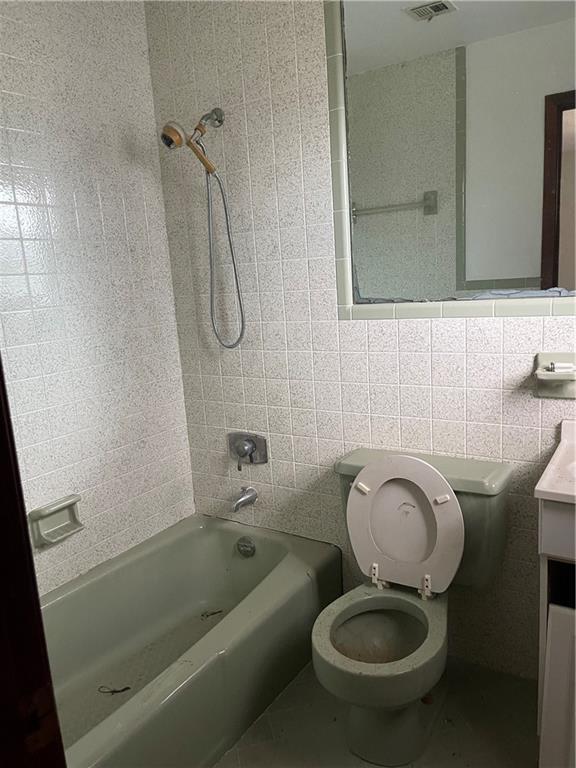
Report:
<svg viewBox="0 0 576 768"><path fill-rule="evenodd" d="M0 4L0 352L42 592L193 511L140 3Z"/></svg>

